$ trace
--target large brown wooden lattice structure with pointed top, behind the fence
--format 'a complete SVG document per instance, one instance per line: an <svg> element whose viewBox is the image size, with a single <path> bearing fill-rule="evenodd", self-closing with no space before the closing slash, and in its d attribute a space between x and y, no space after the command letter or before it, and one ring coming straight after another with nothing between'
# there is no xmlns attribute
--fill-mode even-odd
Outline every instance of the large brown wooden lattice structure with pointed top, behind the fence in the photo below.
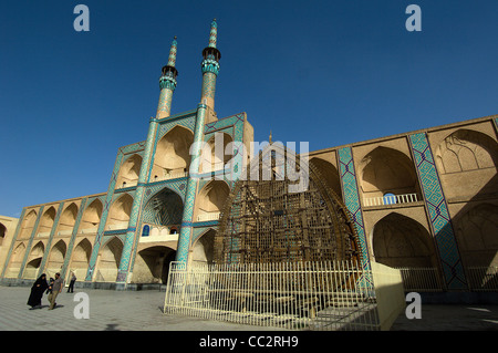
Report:
<svg viewBox="0 0 498 353"><path fill-rule="evenodd" d="M347 210L312 163L273 144L242 176L221 212L216 263L361 262Z"/></svg>

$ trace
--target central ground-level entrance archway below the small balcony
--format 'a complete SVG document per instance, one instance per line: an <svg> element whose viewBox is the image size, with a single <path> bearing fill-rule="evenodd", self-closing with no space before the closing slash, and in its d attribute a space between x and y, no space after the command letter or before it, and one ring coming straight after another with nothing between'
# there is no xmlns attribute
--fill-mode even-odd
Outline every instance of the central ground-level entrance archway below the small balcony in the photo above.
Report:
<svg viewBox="0 0 498 353"><path fill-rule="evenodd" d="M138 251L133 266L134 283L167 283L169 263L176 251L164 246L152 246Z"/></svg>

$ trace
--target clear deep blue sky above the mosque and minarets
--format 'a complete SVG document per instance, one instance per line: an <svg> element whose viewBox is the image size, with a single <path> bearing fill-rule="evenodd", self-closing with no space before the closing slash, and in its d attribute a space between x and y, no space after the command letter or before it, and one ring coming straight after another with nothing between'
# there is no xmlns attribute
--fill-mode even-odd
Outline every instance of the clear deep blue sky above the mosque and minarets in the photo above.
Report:
<svg viewBox="0 0 498 353"><path fill-rule="evenodd" d="M218 116L246 112L256 141L314 150L498 114L496 0L1 1L0 215L106 191L117 148L146 138L174 35L172 113L197 106L212 18Z"/></svg>

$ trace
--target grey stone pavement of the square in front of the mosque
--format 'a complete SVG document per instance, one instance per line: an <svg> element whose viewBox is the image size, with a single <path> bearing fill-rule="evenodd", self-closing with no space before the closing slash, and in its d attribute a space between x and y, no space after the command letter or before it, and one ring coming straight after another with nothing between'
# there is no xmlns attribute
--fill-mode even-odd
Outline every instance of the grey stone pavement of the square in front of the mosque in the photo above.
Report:
<svg viewBox="0 0 498 353"><path fill-rule="evenodd" d="M90 319L75 319L77 292L90 299ZM0 331L276 331L271 328L231 324L196 318L163 314L165 292L65 290L58 307L49 311L46 295L42 309L27 305L30 288L0 285ZM498 305L422 305L422 319L404 314L392 331L498 331ZM288 331L289 333L290 331Z"/></svg>

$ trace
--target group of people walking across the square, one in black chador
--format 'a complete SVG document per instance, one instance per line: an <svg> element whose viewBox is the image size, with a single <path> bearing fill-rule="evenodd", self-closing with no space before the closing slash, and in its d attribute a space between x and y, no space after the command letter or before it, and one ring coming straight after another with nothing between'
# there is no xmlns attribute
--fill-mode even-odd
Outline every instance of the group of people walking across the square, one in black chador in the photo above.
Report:
<svg viewBox="0 0 498 353"><path fill-rule="evenodd" d="M71 273L71 281L68 288L68 293L74 292L74 283L76 282L76 276L74 272ZM55 278L50 278L50 282L46 282L46 274L40 276L31 287L30 298L28 299L28 305L31 309L42 308L41 300L43 294L49 294L49 310L53 310L56 307L55 299L59 293L62 292L64 287L64 280L61 278L61 273L55 273Z"/></svg>

